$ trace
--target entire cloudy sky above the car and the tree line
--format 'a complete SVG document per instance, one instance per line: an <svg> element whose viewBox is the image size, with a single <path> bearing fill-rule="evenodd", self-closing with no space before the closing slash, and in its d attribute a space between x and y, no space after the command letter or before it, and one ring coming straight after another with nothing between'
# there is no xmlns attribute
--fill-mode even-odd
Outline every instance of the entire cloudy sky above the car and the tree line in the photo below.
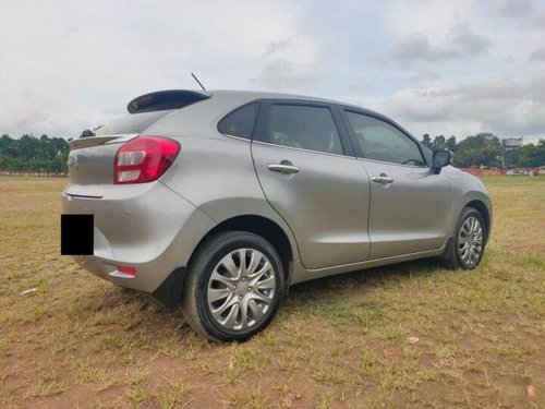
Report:
<svg viewBox="0 0 545 409"><path fill-rule="evenodd" d="M419 137L545 137L545 3L1 0L0 134L70 137L158 89L355 103Z"/></svg>

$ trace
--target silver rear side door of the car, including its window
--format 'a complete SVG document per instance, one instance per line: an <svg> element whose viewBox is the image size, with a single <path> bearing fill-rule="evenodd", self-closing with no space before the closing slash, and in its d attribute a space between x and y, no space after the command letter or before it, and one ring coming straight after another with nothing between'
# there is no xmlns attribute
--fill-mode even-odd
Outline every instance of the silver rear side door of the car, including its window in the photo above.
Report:
<svg viewBox="0 0 545 409"><path fill-rule="evenodd" d="M365 261L370 251L370 179L332 108L264 100L252 142L263 191L310 269Z"/></svg>

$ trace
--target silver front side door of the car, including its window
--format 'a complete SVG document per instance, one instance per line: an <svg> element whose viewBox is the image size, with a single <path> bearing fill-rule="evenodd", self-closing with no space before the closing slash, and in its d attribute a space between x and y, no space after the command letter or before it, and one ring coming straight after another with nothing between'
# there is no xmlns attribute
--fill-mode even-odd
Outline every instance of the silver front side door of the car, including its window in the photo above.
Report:
<svg viewBox="0 0 545 409"><path fill-rule="evenodd" d="M439 249L450 226L449 177L431 172L416 141L393 123L342 111L372 180L370 260Z"/></svg>

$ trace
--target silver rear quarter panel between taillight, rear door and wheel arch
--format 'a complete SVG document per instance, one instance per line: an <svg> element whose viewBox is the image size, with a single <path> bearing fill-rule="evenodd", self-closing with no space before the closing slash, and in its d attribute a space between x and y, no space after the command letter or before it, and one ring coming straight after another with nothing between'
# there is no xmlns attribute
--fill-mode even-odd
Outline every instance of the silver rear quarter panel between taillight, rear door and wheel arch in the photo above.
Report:
<svg viewBox="0 0 545 409"><path fill-rule="evenodd" d="M291 229L270 207L262 191L250 141L221 135L215 125L206 134L186 135L185 131L180 134L170 135L180 142L181 149L161 182L217 224L242 215L263 216L275 221L288 236L293 256L299 260Z"/></svg>

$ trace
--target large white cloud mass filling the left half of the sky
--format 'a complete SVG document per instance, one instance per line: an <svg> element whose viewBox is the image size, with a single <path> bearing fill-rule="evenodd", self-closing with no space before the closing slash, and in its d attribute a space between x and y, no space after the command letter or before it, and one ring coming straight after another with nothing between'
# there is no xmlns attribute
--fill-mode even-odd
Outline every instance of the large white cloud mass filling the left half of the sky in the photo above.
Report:
<svg viewBox="0 0 545 409"><path fill-rule="evenodd" d="M286 79L304 75L318 52L287 0L23 0L2 2L1 14L0 133L13 135L78 134L140 94L195 88L192 71L208 88L292 87Z"/></svg>

